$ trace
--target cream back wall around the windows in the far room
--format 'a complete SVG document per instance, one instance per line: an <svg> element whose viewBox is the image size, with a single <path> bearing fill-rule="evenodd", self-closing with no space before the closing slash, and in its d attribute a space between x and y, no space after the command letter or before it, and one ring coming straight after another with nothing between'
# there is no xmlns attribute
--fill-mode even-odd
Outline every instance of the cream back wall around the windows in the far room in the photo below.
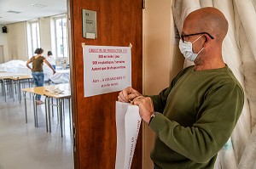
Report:
<svg viewBox="0 0 256 169"><path fill-rule="evenodd" d="M40 18L39 30L40 30L40 42L41 48L44 49L44 57L47 56L47 52L50 50L54 53L55 47L53 46L54 41L51 39L55 38L53 20L51 17ZM26 61L31 58L34 51L29 51L27 42L27 25L29 21L19 22L7 25L8 33L0 32L0 45L3 45L4 62L12 59L20 59ZM1 26L2 29L2 26ZM52 38L51 38L52 37Z"/></svg>

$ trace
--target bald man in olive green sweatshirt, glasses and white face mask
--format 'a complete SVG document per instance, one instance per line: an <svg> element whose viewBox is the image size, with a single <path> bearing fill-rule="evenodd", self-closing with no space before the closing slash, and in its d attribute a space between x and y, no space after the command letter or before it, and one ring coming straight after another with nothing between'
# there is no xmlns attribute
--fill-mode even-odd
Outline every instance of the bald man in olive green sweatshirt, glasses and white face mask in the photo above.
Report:
<svg viewBox="0 0 256 169"><path fill-rule="evenodd" d="M156 169L213 168L243 107L243 91L222 59L228 22L217 8L200 8L184 20L179 47L195 65L183 69L159 95L127 87L119 101L139 106L156 133ZM232 56L230 56L232 57Z"/></svg>

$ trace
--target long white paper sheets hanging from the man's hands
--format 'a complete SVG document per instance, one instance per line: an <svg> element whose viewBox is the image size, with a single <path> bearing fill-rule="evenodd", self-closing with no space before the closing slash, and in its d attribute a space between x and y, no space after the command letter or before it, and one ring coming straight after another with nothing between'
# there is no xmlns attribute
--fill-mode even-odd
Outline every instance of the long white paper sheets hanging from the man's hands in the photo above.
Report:
<svg viewBox="0 0 256 169"><path fill-rule="evenodd" d="M115 169L130 169L142 118L137 105L116 102Z"/></svg>

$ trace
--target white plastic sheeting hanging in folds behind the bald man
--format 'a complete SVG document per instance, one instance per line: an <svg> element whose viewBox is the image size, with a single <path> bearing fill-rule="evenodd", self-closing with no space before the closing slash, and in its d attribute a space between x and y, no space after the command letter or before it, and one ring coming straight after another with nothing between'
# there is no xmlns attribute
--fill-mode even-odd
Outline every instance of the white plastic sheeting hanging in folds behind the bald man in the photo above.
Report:
<svg viewBox="0 0 256 169"><path fill-rule="evenodd" d="M229 21L223 44L224 62L245 91L245 104L230 140L218 153L215 169L256 169L256 14L255 0L173 0L179 32L183 20L197 8L214 7ZM185 60L184 66L192 63Z"/></svg>

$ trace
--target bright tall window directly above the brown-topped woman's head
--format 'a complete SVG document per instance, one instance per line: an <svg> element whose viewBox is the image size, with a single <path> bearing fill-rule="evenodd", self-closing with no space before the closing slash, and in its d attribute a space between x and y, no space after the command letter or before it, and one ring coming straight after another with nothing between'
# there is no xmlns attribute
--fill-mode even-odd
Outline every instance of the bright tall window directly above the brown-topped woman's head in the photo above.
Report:
<svg viewBox="0 0 256 169"><path fill-rule="evenodd" d="M31 22L31 40L32 40L32 54L37 48L40 48L40 34L38 21Z"/></svg>

